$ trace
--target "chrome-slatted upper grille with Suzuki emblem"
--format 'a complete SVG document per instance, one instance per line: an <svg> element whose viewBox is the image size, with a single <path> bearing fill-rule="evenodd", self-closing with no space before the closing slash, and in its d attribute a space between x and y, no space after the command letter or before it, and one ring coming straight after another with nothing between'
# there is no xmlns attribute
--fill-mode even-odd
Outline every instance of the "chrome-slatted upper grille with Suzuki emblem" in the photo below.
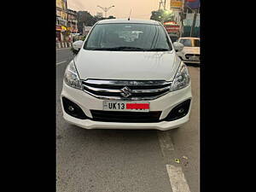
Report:
<svg viewBox="0 0 256 192"><path fill-rule="evenodd" d="M165 95L172 82L164 80L98 80L82 82L85 92L101 99L114 100L154 100Z"/></svg>

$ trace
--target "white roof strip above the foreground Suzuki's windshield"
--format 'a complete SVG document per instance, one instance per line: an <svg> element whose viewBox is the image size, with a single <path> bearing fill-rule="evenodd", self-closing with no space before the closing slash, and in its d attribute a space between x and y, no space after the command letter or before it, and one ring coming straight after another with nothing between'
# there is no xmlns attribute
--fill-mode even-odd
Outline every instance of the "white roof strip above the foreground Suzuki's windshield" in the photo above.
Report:
<svg viewBox="0 0 256 192"><path fill-rule="evenodd" d="M141 23L141 24L151 24L160 25L159 21L156 20L139 20L139 19L110 19L110 20L99 20L96 24L108 24L108 23Z"/></svg>

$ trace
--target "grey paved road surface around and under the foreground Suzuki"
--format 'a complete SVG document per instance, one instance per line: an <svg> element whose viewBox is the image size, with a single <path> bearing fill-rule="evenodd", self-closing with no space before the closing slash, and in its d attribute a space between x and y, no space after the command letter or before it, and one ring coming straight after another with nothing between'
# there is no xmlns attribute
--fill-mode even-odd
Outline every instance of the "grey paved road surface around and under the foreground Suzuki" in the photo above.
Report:
<svg viewBox="0 0 256 192"><path fill-rule="evenodd" d="M62 118L62 78L73 55L56 54L57 192L199 192L199 67L189 67L194 101L182 128L85 130Z"/></svg>

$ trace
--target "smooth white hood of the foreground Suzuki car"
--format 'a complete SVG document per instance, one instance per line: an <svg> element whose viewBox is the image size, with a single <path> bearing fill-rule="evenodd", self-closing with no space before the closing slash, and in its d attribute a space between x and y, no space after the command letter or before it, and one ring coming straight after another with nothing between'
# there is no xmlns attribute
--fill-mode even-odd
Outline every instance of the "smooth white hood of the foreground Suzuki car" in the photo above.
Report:
<svg viewBox="0 0 256 192"><path fill-rule="evenodd" d="M74 58L80 79L171 81L180 59L175 51L101 51L81 49Z"/></svg>

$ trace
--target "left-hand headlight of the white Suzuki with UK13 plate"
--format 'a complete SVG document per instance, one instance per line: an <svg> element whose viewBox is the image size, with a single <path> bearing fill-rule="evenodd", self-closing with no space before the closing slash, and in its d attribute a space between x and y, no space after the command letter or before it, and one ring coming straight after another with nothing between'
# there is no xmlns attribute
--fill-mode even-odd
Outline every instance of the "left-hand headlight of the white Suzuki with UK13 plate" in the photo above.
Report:
<svg viewBox="0 0 256 192"><path fill-rule="evenodd" d="M79 73L76 69L74 61L71 61L65 71L64 81L67 85L82 90L82 82L79 79Z"/></svg>

